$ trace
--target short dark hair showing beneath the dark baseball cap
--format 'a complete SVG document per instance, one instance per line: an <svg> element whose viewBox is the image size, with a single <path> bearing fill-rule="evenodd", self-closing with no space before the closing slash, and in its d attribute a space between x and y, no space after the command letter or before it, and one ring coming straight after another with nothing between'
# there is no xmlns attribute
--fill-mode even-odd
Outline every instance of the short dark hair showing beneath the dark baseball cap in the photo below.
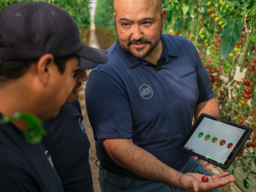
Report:
<svg viewBox="0 0 256 192"><path fill-rule="evenodd" d="M4 47L3 38L0 35L0 47ZM55 58L58 70L63 73L66 68L68 60L77 57L76 55L70 55L66 57ZM28 68L37 62L37 60L0 60L0 82L7 80L14 80L22 77L28 70Z"/></svg>

